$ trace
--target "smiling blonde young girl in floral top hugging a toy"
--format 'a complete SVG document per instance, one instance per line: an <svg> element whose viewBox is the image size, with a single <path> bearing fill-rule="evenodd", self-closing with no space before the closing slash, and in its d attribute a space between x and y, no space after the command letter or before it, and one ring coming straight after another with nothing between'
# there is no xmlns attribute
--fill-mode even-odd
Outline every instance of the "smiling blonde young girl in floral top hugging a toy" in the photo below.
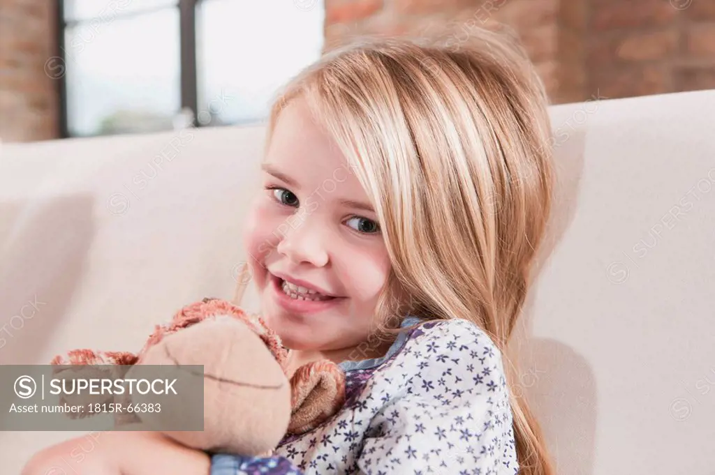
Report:
<svg viewBox="0 0 715 475"><path fill-rule="evenodd" d="M266 458L109 432L25 473L553 474L503 355L550 208L546 97L521 49L474 40L335 49L272 109L246 251L292 368L345 370L338 414Z"/></svg>

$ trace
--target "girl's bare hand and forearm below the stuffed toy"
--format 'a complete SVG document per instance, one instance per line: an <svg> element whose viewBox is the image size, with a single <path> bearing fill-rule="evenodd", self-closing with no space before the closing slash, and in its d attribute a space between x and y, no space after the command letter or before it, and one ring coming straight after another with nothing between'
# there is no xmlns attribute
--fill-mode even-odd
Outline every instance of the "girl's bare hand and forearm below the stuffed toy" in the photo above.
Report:
<svg viewBox="0 0 715 475"><path fill-rule="evenodd" d="M209 475L203 451L177 444L159 432L99 432L39 451L21 475Z"/></svg>

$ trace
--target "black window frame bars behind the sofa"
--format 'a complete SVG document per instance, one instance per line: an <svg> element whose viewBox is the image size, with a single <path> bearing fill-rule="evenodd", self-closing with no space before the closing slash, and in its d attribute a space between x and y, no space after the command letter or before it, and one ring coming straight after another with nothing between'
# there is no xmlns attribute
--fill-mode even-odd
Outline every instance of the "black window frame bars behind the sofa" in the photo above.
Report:
<svg viewBox="0 0 715 475"><path fill-rule="evenodd" d="M197 120L198 114L198 84L197 84L197 51L196 51L196 11L197 6L202 0L176 0L176 6L159 6L157 11L167 8L179 9L179 41L180 41L180 91L181 104L180 110L190 109L192 111L193 124L191 126L201 127L202 124ZM131 18L147 14L152 9L130 12L123 14L122 18ZM82 20L65 19L65 0L57 0L57 24L56 24L56 44L57 56L62 61L64 66L67 66L67 58L65 52L65 31L68 26L82 23ZM69 134L68 110L67 110L67 83L66 74L62 74L59 78L59 136L61 139L74 138ZM177 114L179 111L177 111Z"/></svg>

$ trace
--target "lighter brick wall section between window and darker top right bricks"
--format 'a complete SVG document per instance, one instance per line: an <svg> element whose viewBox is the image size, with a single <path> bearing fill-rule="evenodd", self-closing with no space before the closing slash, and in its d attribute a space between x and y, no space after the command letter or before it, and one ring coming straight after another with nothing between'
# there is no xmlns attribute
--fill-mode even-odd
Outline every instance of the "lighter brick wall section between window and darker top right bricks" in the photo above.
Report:
<svg viewBox="0 0 715 475"><path fill-rule="evenodd" d="M568 4L568 9L561 6ZM511 26L546 84L555 102L577 101L585 88L581 51L582 42L574 7L586 0L325 0L325 49L361 34L429 35L447 25L454 31L445 46L458 49L470 29L491 28L498 24ZM566 25L567 27L562 27ZM566 41L563 34L576 41ZM461 40L460 40L461 39ZM567 44L564 50L561 45Z"/></svg>

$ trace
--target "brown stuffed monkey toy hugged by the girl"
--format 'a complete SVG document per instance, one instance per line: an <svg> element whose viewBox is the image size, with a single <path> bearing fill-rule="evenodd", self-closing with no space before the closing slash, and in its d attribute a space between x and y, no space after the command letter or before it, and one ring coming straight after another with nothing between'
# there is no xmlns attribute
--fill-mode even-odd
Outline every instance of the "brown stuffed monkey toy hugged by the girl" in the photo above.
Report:
<svg viewBox="0 0 715 475"><path fill-rule="evenodd" d="M314 429L345 401L345 374L339 366L315 361L298 368L289 379L287 356L279 336L260 316L228 301L203 299L184 306L169 324L157 325L137 354L77 349L56 356L51 364L57 365L54 377L60 379L78 374L107 377L107 371L112 377L128 378L141 364L203 365L204 430L164 434L203 451L266 456L284 436ZM102 400L107 397L127 396L65 396L64 402L85 406L128 402ZM77 414L87 416L87 411ZM114 424L140 421L149 428L161 427L162 417L167 416L165 411L117 413Z"/></svg>

